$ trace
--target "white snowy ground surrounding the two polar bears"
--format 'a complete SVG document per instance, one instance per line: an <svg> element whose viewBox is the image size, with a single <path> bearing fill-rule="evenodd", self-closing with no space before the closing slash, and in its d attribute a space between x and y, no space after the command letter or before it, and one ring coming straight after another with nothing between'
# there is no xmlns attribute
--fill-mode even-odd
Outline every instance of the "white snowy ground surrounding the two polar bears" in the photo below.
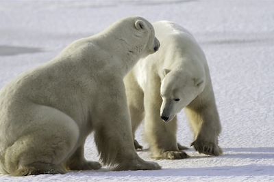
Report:
<svg viewBox="0 0 274 182"><path fill-rule="evenodd" d="M0 1L0 88L52 59L67 44L126 16L172 20L197 37L208 57L223 125L224 155L193 149L186 160L159 160L162 170L69 172L0 181L274 181L274 1ZM178 140L192 133L184 112ZM142 140L142 129L138 130ZM138 154L145 160L148 151ZM98 160L90 136L86 158Z"/></svg>

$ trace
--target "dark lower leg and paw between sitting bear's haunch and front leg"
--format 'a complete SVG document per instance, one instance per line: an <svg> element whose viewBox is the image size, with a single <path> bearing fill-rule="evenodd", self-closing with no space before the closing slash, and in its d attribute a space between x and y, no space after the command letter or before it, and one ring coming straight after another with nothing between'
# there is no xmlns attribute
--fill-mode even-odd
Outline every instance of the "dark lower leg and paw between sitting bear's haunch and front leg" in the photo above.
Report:
<svg viewBox="0 0 274 182"><path fill-rule="evenodd" d="M101 168L99 162L87 161L84 157L84 144L80 146L66 162L68 170L97 170Z"/></svg>

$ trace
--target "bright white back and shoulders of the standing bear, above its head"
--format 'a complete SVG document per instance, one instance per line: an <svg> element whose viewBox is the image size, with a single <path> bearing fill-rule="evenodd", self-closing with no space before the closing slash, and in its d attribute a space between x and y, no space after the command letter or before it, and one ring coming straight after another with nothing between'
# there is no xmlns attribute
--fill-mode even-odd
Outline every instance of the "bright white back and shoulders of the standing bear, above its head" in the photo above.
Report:
<svg viewBox="0 0 274 182"><path fill-rule="evenodd" d="M188 67L190 74L198 74L193 75L193 78L208 74L206 56L188 30L166 20L154 22L152 25L161 47L155 54L141 59L132 72L142 90L145 89L147 76L152 70L163 76L163 68L175 70Z"/></svg>

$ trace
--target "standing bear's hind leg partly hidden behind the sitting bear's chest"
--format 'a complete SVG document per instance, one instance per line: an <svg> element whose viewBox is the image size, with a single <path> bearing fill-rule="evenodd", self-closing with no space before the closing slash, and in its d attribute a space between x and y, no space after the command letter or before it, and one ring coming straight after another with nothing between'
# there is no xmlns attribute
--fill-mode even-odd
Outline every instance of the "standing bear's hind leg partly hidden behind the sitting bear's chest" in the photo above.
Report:
<svg viewBox="0 0 274 182"><path fill-rule="evenodd" d="M125 88L127 93L127 106L129 107L130 118L132 121L132 134L135 138L135 132L144 119L145 110L144 110L144 92L138 85L138 82L133 74L129 72L124 79ZM142 149L142 145L139 145L137 140L134 140L135 149Z"/></svg>

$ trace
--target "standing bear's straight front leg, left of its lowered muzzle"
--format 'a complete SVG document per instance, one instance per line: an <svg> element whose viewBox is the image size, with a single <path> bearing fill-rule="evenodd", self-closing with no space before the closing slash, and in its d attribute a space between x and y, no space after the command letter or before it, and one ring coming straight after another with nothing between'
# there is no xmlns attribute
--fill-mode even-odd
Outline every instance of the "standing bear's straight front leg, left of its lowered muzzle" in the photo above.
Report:
<svg viewBox="0 0 274 182"><path fill-rule="evenodd" d="M188 157L177 146L177 118L165 123L160 118L160 78L157 75L148 76L145 88L145 135L153 158L182 159Z"/></svg>

